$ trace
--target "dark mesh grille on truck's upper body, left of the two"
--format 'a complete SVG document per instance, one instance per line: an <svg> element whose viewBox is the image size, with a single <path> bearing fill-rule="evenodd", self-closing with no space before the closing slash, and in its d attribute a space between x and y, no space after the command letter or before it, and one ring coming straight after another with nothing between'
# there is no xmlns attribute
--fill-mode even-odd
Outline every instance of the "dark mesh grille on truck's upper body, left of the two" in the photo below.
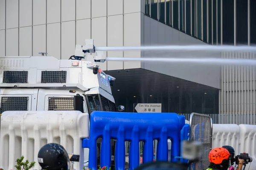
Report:
<svg viewBox="0 0 256 170"><path fill-rule="evenodd" d="M27 83L28 71L3 71L3 83Z"/></svg>

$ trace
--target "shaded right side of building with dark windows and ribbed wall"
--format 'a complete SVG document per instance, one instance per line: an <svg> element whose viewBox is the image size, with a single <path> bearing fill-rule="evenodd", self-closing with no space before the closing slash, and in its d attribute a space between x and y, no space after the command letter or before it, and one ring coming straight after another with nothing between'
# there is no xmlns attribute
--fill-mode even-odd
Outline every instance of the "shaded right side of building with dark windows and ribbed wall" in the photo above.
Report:
<svg viewBox="0 0 256 170"><path fill-rule="evenodd" d="M141 45L254 45L256 42L254 0L145 0L141 6ZM249 52L141 52L141 57L189 56L256 59L255 53ZM124 78L133 79L134 83L116 82L113 93L118 104L128 106L126 111L133 111L132 104L136 102L161 102L163 112L184 114L186 118L189 113L198 112L209 114L214 123L255 124L255 68L141 62L140 71L129 70L133 73ZM110 73L121 80L129 71ZM136 87L134 97L131 91L121 92L122 85L126 89Z"/></svg>

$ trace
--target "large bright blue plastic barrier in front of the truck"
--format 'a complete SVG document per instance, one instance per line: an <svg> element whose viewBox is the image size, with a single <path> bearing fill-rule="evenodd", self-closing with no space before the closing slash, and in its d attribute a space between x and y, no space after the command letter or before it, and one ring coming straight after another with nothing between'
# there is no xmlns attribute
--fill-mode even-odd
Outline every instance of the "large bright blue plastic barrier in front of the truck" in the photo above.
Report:
<svg viewBox="0 0 256 170"><path fill-rule="evenodd" d="M125 169L125 141L130 141L130 169L139 166L139 142L144 141L143 163L153 161L153 141L157 139L157 160L168 161L167 140L171 138L171 161L180 160L180 140L186 139L185 117L176 113L120 113L94 111L90 115L90 139L82 147L89 148L89 168L96 170L96 140L101 137L100 164L111 166L111 139L116 140L115 167ZM185 128L185 134L181 132ZM181 137L183 136L183 137ZM184 137L185 136L185 137Z"/></svg>

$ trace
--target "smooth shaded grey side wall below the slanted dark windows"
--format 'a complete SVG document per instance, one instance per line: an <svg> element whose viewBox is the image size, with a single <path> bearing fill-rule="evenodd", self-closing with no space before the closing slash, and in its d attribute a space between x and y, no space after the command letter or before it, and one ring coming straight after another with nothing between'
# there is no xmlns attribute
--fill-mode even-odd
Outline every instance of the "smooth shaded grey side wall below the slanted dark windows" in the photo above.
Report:
<svg viewBox="0 0 256 170"><path fill-rule="evenodd" d="M144 15L143 15L144 16ZM197 40L181 31L158 22L150 17L144 16L142 19L143 31L142 45L206 45L201 40ZM221 58L220 52L186 52L186 51L145 51L144 57L214 57ZM186 79L214 88L221 88L221 65L211 65L210 63L170 63L170 62L142 62L141 67L167 74L169 76Z"/></svg>

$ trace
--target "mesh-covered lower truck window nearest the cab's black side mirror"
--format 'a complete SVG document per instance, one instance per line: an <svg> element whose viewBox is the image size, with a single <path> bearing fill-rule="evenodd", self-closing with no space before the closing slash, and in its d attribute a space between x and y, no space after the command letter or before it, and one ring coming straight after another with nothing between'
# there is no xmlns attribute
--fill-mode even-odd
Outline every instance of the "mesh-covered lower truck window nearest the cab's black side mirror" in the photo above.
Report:
<svg viewBox="0 0 256 170"><path fill-rule="evenodd" d="M49 97L48 111L73 111L74 97Z"/></svg>

